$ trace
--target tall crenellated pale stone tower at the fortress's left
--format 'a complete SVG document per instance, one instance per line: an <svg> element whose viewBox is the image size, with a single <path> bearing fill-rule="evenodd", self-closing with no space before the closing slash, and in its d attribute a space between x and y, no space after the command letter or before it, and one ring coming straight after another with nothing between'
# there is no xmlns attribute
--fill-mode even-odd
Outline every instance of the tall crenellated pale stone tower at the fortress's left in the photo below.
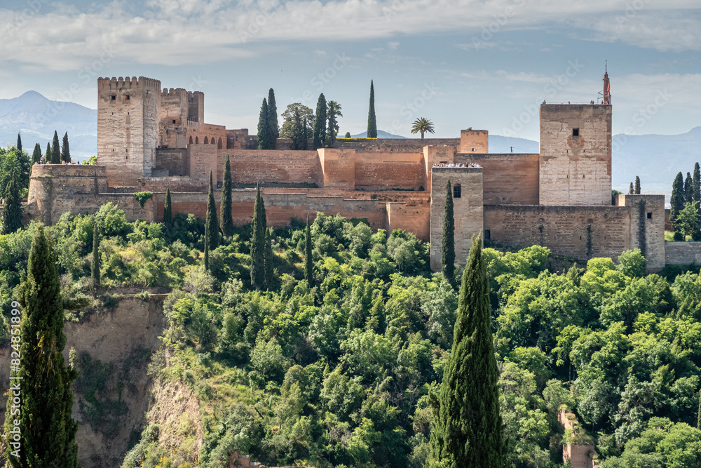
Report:
<svg viewBox="0 0 701 468"><path fill-rule="evenodd" d="M161 81L97 79L97 163L111 187L134 187L156 165Z"/></svg>

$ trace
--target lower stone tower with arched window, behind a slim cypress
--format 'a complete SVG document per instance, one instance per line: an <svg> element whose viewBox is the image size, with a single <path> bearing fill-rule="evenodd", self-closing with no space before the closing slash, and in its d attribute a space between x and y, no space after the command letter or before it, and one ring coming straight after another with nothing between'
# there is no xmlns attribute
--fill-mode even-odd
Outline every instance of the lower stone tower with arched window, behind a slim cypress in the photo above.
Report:
<svg viewBox="0 0 701 468"><path fill-rule="evenodd" d="M482 235L482 168L431 168L430 261L434 272L440 270L443 242L443 211L448 180L453 192L455 219L455 262L465 265L472 236Z"/></svg>

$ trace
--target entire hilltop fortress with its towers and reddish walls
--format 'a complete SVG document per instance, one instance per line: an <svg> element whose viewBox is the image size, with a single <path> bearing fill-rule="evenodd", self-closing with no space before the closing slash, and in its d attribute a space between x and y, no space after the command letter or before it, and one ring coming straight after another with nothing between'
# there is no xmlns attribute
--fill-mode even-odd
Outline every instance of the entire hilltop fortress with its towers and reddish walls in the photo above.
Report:
<svg viewBox="0 0 701 468"><path fill-rule="evenodd" d="M611 204L607 85L608 75L601 104L543 102L539 153L495 154L487 131L471 129L460 138L338 140L313 151L293 151L280 138L275 150L258 150L247 129L205 123L203 93L161 89L160 81L144 77L100 78L98 166L34 166L27 210L52 224L66 211L94 213L111 201L129 220L154 222L163 219L170 188L173 215L203 218L210 171L221 187L229 154L239 225L250 222L261 182L268 225L318 211L365 218L374 229L405 229L430 241L431 267L440 269L450 181L458 262L465 262L472 234L482 234L512 246L538 243L578 260L640 248L651 271L690 263L690 246L665 246L664 196L620 195ZM460 163L479 167L452 167ZM142 191L154 194L143 207L133 196ZM215 191L217 201L220 194Z"/></svg>

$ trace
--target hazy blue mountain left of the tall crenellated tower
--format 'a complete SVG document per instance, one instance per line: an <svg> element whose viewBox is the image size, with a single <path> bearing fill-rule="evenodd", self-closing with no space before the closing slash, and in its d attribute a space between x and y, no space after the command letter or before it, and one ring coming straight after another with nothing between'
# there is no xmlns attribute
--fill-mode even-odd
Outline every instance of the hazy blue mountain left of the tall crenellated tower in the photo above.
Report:
<svg viewBox="0 0 701 468"><path fill-rule="evenodd" d="M97 110L73 102L49 100L36 91L27 91L19 98L0 99L0 145L15 145L17 133L22 133L22 148L29 154L34 145L53 140L54 131L59 139L68 132L71 156L85 159L97 152Z"/></svg>

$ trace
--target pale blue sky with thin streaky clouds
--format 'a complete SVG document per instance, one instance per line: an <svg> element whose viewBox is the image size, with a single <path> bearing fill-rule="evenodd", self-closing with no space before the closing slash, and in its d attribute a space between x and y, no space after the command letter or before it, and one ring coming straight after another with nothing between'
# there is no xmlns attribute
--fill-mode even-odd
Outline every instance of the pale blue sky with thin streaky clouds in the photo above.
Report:
<svg viewBox="0 0 701 468"><path fill-rule="evenodd" d="M97 77L148 76L251 133L268 88L279 114L324 93L341 134L365 131L373 80L381 130L538 140L538 105L596 101L605 67L614 133L701 126L700 2L0 0L0 98L94 109Z"/></svg>

